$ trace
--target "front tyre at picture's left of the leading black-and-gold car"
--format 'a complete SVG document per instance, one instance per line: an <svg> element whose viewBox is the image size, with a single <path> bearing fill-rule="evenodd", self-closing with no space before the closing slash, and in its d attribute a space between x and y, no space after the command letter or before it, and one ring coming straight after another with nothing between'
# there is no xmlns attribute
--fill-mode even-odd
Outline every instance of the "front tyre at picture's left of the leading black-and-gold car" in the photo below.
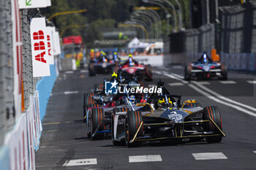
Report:
<svg viewBox="0 0 256 170"><path fill-rule="evenodd" d="M132 139L134 138L136 132L138 131L138 128L140 126L140 123L142 123L142 115L139 111L128 111L127 117L125 119L125 142L127 144L127 147L141 147L143 145L142 141L135 141L130 143ZM138 131L137 136L141 136L143 134L143 126L140 128L140 131Z"/></svg>

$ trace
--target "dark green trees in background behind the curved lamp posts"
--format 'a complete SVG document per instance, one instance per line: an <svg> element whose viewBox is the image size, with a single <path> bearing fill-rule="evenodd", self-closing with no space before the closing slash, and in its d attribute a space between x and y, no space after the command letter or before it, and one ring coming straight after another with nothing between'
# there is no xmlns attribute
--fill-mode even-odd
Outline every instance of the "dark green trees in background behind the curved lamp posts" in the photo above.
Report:
<svg viewBox="0 0 256 170"><path fill-rule="evenodd" d="M173 1L173 0L171 0ZM189 5L190 0L178 0L182 6L182 14L184 27L189 28ZM175 2L173 2L175 4ZM65 27L70 25L84 25L88 24L86 28L69 28L65 31L64 36L82 35L83 39L89 45L92 45L94 40L102 39L102 30L106 28L111 29L117 23L124 23L129 20L131 15L130 9L138 6L155 6L153 4L144 4L141 0L52 0L52 7L41 9L42 14L49 18L56 12L65 12L70 10L87 9L85 13L78 13L72 15L61 15L53 18L53 23L59 28L61 32ZM167 6L166 6L167 7ZM168 7L167 7L168 8ZM170 12L170 9L168 9ZM165 18L165 11L157 11L162 18L162 36L167 36L167 23ZM173 30L172 18L170 18L169 28L170 32ZM154 28L149 31L150 35L154 35Z"/></svg>

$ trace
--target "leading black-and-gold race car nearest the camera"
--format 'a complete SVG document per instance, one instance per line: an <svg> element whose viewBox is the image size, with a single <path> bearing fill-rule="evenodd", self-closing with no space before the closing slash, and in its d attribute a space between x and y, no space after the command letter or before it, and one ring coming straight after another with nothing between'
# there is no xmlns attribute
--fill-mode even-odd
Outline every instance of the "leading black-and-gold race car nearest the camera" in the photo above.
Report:
<svg viewBox="0 0 256 170"><path fill-rule="evenodd" d="M153 140L222 141L225 134L218 107L201 107L195 100L181 102L181 96L170 95L164 86L162 88L166 93L154 94L148 98L148 103L137 104L147 108L113 112L113 144L140 147L143 141Z"/></svg>

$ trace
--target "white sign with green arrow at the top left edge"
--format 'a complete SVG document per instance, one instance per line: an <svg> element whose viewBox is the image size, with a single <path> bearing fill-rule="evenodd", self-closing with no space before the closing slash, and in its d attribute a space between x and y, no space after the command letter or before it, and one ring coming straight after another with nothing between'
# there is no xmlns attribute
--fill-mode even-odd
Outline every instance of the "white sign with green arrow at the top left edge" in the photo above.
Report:
<svg viewBox="0 0 256 170"><path fill-rule="evenodd" d="M45 8L51 6L51 0L18 0L20 9Z"/></svg>

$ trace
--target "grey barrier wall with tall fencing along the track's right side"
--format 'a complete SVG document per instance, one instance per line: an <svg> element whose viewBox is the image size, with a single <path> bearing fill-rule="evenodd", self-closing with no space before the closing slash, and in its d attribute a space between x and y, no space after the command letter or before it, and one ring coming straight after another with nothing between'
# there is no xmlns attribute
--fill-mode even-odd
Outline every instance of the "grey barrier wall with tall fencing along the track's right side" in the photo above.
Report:
<svg viewBox="0 0 256 170"><path fill-rule="evenodd" d="M229 69L256 71L256 1L219 7L219 23L206 24L170 34L165 39L165 65L196 61L200 55L217 49ZM228 61L230 60L230 61ZM235 64L241 61L243 64Z"/></svg>

